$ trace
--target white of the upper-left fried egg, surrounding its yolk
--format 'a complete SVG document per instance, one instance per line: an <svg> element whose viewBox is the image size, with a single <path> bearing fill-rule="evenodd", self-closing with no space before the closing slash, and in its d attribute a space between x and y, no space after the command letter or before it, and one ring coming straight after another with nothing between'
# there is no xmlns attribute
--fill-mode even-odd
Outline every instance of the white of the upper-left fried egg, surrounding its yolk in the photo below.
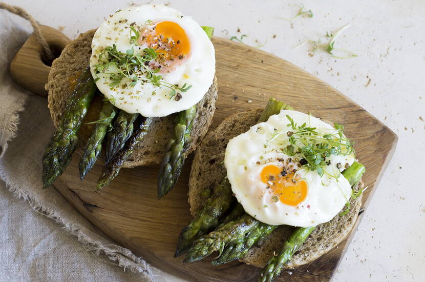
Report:
<svg viewBox="0 0 425 282"><path fill-rule="evenodd" d="M121 22L120 22L121 21ZM192 87L176 101L170 99L170 89L154 86L151 83L137 83L134 87L125 87L131 80L123 78L118 86L109 86L109 75L95 73L94 65L98 64L98 54L107 46L115 44L117 50L125 53L132 49L130 44L131 23L144 25L146 21L171 21L180 25L190 42L189 55L182 62L174 64L170 72L158 73L163 81L182 86ZM147 46L136 46L135 51ZM96 86L105 97L110 99L117 108L128 113L140 113L145 117L166 116L188 109L198 103L208 91L215 74L214 46L198 23L189 16L183 16L179 11L163 5L142 5L122 9L109 17L97 29L92 41L92 56L90 66L93 77L100 77Z"/></svg>

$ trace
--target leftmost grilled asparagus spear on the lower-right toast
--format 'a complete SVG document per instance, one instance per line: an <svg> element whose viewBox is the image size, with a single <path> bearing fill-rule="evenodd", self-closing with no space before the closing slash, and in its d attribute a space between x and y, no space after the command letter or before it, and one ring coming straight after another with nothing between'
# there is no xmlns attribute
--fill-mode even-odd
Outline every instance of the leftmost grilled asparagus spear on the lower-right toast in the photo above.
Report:
<svg viewBox="0 0 425 282"><path fill-rule="evenodd" d="M204 208L183 228L179 235L175 257L186 252L194 240L214 228L219 221L219 216L224 213L233 202L230 183L224 178L220 184L213 188L213 195L205 202Z"/></svg>

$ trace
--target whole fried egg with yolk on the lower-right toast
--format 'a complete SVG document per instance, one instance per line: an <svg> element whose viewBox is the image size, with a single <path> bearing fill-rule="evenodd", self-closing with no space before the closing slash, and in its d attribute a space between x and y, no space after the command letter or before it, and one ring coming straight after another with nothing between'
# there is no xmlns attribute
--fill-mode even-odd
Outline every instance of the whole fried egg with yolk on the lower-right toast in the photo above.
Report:
<svg viewBox="0 0 425 282"><path fill-rule="evenodd" d="M331 220L349 200L351 186L341 172L355 161L354 152L330 155L322 176L309 170L300 153L289 156L282 150L293 134L286 115L319 134L338 134L319 118L282 110L229 141L227 177L245 211L263 223L316 226Z"/></svg>

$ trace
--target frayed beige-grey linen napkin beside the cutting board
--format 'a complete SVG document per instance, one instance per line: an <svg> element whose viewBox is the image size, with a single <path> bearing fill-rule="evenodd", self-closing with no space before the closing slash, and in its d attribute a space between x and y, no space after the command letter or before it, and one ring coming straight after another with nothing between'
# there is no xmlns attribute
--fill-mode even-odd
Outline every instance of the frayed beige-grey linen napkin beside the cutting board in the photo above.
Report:
<svg viewBox="0 0 425 282"><path fill-rule="evenodd" d="M54 131L47 100L14 84L8 72L12 58L31 32L26 21L0 10L0 281L177 279L115 245L53 187L41 189L41 156ZM29 205L23 205L23 200ZM53 220L56 231L53 221L46 224L36 212ZM31 227L33 224L46 224L46 228ZM65 230L65 235L57 232L59 229ZM65 241L60 241L63 238ZM81 244L71 244L72 240ZM81 255L81 247L94 254L92 260ZM61 269L49 269L57 267L58 260ZM111 263L124 269L113 270ZM140 274L125 274L125 269Z"/></svg>

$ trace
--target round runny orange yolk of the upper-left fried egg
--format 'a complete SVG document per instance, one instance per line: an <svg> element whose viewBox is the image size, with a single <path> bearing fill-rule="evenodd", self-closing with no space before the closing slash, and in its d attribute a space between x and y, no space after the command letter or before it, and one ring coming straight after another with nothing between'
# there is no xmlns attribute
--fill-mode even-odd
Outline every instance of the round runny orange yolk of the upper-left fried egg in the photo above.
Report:
<svg viewBox="0 0 425 282"><path fill-rule="evenodd" d="M154 26L153 32L141 34L139 44L147 45L158 53L163 61L183 59L189 54L190 43L184 29L177 23L164 21Z"/></svg>

